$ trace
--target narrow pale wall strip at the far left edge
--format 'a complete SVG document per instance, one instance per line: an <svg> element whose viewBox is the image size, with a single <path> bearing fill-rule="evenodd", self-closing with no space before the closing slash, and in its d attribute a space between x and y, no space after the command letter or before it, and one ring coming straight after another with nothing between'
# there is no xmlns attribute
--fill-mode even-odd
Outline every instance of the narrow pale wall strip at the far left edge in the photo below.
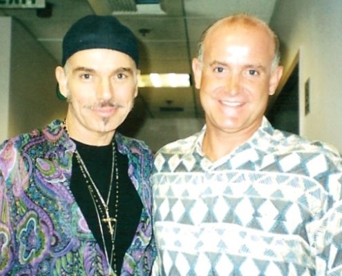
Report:
<svg viewBox="0 0 342 276"><path fill-rule="evenodd" d="M8 137L11 19L0 17L0 141Z"/></svg>

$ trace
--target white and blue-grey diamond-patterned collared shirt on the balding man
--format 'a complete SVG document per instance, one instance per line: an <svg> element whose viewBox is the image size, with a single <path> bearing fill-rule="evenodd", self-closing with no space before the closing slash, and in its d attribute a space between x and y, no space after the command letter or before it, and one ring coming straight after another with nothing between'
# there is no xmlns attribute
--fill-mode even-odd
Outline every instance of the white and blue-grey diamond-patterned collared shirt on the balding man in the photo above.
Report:
<svg viewBox="0 0 342 276"><path fill-rule="evenodd" d="M152 275L342 275L339 152L264 117L211 162L205 129L155 156Z"/></svg>

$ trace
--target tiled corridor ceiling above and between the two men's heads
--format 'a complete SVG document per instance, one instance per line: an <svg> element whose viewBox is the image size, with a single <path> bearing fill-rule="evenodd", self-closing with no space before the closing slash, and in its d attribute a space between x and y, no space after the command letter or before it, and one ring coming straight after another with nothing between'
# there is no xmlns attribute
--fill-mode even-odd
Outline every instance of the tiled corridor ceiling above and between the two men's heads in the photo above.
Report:
<svg viewBox="0 0 342 276"><path fill-rule="evenodd" d="M142 74L191 74L198 39L209 24L235 12L249 12L269 22L277 0L160 0L153 4L140 1L143 0L46 0L47 7L52 8L50 17L38 17L34 8L2 8L0 16L21 21L60 62L61 41L72 23L86 14L113 14L131 28L140 42ZM120 11L132 6L136 11ZM140 118L201 117L202 109L193 86L140 88L132 113Z"/></svg>

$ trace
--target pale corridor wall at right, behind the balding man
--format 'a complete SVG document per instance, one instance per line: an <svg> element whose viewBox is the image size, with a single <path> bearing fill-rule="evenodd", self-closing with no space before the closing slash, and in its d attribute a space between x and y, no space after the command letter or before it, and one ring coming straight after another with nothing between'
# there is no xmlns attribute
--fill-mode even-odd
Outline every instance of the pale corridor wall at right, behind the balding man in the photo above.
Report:
<svg viewBox="0 0 342 276"><path fill-rule="evenodd" d="M342 1L278 0L270 25L281 39L285 75L299 55L301 135L342 151ZM304 86L310 78L310 113Z"/></svg>

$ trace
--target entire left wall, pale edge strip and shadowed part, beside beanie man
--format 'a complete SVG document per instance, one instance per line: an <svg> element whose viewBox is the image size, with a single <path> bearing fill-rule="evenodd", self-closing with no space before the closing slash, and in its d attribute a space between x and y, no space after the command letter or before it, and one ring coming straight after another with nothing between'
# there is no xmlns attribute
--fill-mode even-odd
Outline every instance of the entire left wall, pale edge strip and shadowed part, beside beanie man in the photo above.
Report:
<svg viewBox="0 0 342 276"><path fill-rule="evenodd" d="M57 61L11 17L0 17L0 140L63 117L55 97Z"/></svg>

